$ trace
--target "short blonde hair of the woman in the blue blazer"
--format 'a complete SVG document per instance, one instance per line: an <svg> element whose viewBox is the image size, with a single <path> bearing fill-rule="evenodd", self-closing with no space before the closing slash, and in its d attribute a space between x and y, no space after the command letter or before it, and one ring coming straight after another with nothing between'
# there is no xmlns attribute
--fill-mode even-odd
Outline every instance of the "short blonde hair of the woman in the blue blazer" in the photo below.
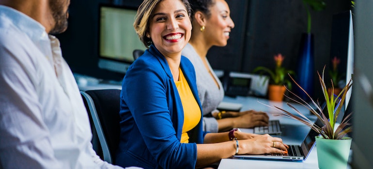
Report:
<svg viewBox="0 0 373 169"><path fill-rule="evenodd" d="M153 18L153 11L160 1L162 0L144 0L137 10L135 22L133 23L133 27L139 35L140 41L144 43L147 48L149 48L153 41L151 38L146 37L146 34L149 32L149 25L151 18ZM188 0L181 1L184 3L190 18L192 10Z"/></svg>

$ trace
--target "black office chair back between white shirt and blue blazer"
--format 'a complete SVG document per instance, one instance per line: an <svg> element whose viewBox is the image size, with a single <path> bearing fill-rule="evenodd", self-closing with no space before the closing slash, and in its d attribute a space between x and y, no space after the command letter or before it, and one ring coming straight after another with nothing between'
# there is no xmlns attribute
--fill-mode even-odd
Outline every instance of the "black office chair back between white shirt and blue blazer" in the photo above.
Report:
<svg viewBox="0 0 373 169"><path fill-rule="evenodd" d="M80 92L90 116L92 144L97 155L113 164L120 137L119 89Z"/></svg>

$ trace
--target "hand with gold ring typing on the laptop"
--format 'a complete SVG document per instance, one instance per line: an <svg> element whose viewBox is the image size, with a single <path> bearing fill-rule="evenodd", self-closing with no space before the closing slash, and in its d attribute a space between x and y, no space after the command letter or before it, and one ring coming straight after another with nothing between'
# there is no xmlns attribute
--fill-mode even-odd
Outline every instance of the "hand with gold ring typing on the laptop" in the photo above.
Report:
<svg viewBox="0 0 373 169"><path fill-rule="evenodd" d="M248 140L240 140L238 154L287 154L287 148L289 147L282 142L282 139L264 134Z"/></svg>

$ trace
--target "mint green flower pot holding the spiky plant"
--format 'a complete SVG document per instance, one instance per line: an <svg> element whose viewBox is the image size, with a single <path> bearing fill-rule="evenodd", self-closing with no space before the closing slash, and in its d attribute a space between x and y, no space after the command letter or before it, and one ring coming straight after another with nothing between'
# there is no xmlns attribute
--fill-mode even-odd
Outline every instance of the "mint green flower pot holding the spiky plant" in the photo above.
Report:
<svg viewBox="0 0 373 169"><path fill-rule="evenodd" d="M316 136L317 161L320 169L346 169L352 138L324 139Z"/></svg>

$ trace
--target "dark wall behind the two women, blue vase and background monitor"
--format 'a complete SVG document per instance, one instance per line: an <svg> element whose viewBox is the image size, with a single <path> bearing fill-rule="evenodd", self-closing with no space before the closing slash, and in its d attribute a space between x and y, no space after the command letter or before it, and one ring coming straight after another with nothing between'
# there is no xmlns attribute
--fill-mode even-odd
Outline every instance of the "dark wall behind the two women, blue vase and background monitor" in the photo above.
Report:
<svg viewBox="0 0 373 169"><path fill-rule="evenodd" d="M213 69L251 73L257 66L273 68L273 56L285 56L283 67L296 70L307 11L302 0L226 0L235 23L228 45L213 47L208 59ZM99 4L138 8L142 0L72 0L69 27L58 35L62 53L74 73L121 81L124 74L98 67ZM325 0L321 11L310 9L314 36L314 71L330 65L332 18L350 9L350 0ZM327 75L327 73L326 73ZM314 76L314 83L319 87ZM314 97L321 95L314 89Z"/></svg>

